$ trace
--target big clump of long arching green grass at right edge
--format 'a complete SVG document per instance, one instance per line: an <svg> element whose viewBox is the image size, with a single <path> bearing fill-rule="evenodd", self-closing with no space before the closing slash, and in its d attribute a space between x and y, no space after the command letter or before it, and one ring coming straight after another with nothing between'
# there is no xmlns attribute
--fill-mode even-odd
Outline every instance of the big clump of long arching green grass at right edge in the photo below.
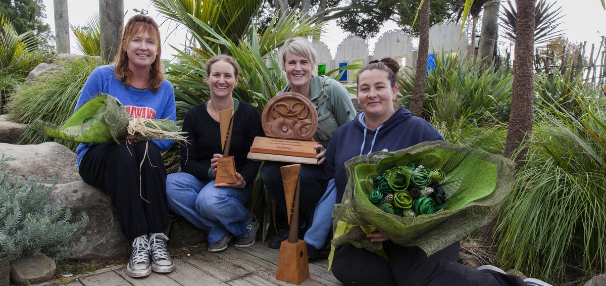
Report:
<svg viewBox="0 0 606 286"><path fill-rule="evenodd" d="M499 218L498 258L551 283L606 266L606 114L603 102L575 104L583 116L558 104L536 111L527 164Z"/></svg>

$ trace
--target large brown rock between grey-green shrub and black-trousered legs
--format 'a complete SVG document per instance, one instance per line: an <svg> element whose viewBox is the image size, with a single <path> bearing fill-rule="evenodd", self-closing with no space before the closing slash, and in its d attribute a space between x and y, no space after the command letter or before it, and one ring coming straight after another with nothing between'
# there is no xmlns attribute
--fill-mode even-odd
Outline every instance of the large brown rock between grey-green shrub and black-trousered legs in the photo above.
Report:
<svg viewBox="0 0 606 286"><path fill-rule="evenodd" d="M84 231L88 242L70 259L128 258L131 243L120 231L116 209L105 191L84 181L70 182L56 185L50 199L53 204L70 208L73 218L79 218L82 211L88 214L89 221Z"/></svg>

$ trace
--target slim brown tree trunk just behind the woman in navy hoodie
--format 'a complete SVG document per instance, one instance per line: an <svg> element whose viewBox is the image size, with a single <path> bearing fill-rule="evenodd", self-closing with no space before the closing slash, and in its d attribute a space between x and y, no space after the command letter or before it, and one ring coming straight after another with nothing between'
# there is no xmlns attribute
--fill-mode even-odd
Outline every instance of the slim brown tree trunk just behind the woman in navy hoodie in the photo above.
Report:
<svg viewBox="0 0 606 286"><path fill-rule="evenodd" d="M429 16L430 0L425 0L419 15L419 52L413 82L413 94L410 98L410 112L423 117L423 99L425 96L425 78L427 77L427 55L429 53Z"/></svg>

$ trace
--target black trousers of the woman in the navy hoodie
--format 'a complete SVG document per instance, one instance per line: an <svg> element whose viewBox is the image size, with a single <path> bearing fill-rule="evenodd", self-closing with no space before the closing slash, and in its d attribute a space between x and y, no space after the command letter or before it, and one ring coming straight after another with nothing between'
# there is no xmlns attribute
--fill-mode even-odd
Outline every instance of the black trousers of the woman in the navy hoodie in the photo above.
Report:
<svg viewBox="0 0 606 286"><path fill-rule="evenodd" d="M518 276L485 273L457 262L459 242L427 257L419 247L402 247L384 243L389 261L350 243L336 252L333 274L345 285L410 285L410 286L522 286Z"/></svg>

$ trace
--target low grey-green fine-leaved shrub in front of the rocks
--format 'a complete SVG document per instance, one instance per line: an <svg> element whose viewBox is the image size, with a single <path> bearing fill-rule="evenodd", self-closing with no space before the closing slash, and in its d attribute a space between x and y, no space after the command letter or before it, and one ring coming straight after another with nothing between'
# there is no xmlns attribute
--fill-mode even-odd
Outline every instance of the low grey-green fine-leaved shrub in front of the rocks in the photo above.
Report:
<svg viewBox="0 0 606 286"><path fill-rule="evenodd" d="M7 160L4 155L0 157L0 257L15 261L44 253L59 261L81 250L86 244L81 234L88 224L87 214L82 213L78 222L70 222L69 208L50 204L55 184L41 184L35 178L23 182L19 176L11 179L4 167Z"/></svg>

